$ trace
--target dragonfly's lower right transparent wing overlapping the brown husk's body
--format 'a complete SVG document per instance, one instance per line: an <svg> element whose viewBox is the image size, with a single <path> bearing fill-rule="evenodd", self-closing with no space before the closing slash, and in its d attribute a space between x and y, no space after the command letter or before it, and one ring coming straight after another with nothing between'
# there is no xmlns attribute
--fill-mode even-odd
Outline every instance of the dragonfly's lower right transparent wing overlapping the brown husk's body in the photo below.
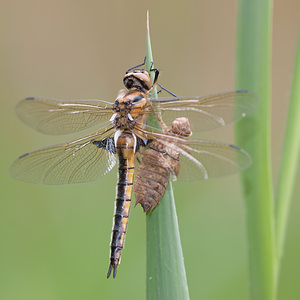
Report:
<svg viewBox="0 0 300 300"><path fill-rule="evenodd" d="M235 145L159 133L151 133L150 136L164 145L166 155L174 157L174 151L179 154L178 180L194 181L225 176L251 165L250 155Z"/></svg>

